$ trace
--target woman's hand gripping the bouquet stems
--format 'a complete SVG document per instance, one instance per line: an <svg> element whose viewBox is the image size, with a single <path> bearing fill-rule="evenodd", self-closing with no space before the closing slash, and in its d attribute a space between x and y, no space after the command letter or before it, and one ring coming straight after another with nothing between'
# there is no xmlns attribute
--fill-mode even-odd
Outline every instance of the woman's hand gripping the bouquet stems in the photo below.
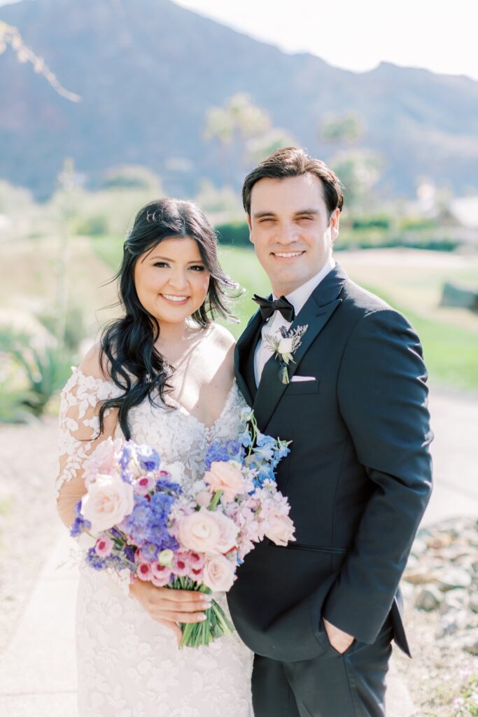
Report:
<svg viewBox="0 0 478 717"><path fill-rule="evenodd" d="M156 587L138 579L130 585L130 595L138 600L153 620L174 632L178 644L183 633L177 623L202 622L206 618L203 610L211 607L211 596L204 592Z"/></svg>

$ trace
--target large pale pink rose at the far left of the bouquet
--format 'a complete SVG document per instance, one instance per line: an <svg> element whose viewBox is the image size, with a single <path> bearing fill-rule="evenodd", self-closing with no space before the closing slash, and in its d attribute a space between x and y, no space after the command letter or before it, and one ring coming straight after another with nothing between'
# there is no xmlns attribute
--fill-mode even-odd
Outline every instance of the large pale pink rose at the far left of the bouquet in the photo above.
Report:
<svg viewBox="0 0 478 717"><path fill-rule="evenodd" d="M82 498L81 514L90 521L92 533L101 533L118 525L133 511L133 485L118 475L97 475Z"/></svg>

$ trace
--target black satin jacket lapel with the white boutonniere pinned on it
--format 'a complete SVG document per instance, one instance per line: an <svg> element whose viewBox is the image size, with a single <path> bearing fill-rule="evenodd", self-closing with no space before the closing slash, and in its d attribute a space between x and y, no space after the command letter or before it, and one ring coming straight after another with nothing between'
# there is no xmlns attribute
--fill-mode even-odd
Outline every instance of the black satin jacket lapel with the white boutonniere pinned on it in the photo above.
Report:
<svg viewBox="0 0 478 717"><path fill-rule="evenodd" d="M342 303L338 298L347 275L340 265L334 269L317 286L304 307L297 314L291 325L291 330L298 326L307 326L307 331L302 336L301 343L293 355L295 363L289 364L289 376L295 374L303 356L310 348L315 338L333 315L335 309ZM264 430L272 416L275 407L284 393L287 384L283 384L279 378L279 361L272 356L262 371L261 381L254 398L253 408L259 429Z"/></svg>

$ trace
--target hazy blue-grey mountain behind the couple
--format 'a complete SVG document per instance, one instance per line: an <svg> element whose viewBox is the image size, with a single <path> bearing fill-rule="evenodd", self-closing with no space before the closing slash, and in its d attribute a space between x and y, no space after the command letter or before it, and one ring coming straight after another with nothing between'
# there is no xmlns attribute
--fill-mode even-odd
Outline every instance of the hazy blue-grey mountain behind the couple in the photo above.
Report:
<svg viewBox="0 0 478 717"><path fill-rule="evenodd" d="M478 82L467 77L388 63L340 70L169 0L26 0L1 7L0 19L82 97L69 102L11 49L0 55L0 176L39 198L65 156L93 185L124 163L148 166L175 194L204 176L219 181L224 160L201 138L204 117L235 92L325 159L334 150L317 136L322 116L360 113L360 145L385 159L384 195L411 196L421 176L457 192L478 187Z"/></svg>

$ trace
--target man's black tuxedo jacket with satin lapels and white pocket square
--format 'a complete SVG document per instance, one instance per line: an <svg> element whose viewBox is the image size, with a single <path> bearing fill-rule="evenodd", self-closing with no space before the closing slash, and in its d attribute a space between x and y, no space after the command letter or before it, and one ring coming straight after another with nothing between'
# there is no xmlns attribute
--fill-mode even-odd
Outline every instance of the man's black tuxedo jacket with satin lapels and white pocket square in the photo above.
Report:
<svg viewBox="0 0 478 717"><path fill-rule="evenodd" d="M239 635L259 655L317 657L320 619L372 643L388 614L410 654L398 583L431 493L426 369L403 315L335 266L295 318L308 326L282 384L267 361L259 388L259 311L239 338L235 371L262 432L292 440L277 484L296 542L265 539L228 594Z"/></svg>

